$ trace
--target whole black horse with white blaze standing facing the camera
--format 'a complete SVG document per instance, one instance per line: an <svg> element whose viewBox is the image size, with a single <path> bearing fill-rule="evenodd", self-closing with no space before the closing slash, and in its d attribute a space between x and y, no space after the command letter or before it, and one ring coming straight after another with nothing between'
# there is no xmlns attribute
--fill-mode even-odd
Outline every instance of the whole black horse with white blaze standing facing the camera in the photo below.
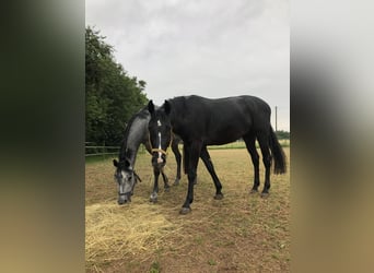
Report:
<svg viewBox="0 0 374 273"><path fill-rule="evenodd" d="M180 210L182 214L191 211L194 201L194 180L199 156L204 156L215 186L215 199L222 199L222 185L215 175L209 158L207 145L221 145L243 138L254 164L255 177L252 192L258 191L259 155L256 151L257 139L265 165L265 185L261 197L267 197L270 189L270 166L274 159L274 174L285 173L285 157L277 135L270 124L271 109L262 99L254 96L238 96L209 99L200 96L180 96L165 100L155 109L150 100L149 122L150 141L160 151L166 151L172 134L177 133L184 141L184 167L188 176L188 192ZM271 151L271 153L270 153ZM166 163L163 153L152 153L152 162L160 166ZM207 165L207 167L208 167Z"/></svg>

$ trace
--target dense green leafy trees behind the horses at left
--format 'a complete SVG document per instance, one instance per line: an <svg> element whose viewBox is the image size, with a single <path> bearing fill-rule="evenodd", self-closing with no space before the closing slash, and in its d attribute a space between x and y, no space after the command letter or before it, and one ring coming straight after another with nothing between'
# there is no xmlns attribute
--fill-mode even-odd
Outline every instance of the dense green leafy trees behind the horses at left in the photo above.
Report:
<svg viewBox="0 0 374 273"><path fill-rule="evenodd" d="M127 74L104 39L85 28L85 141L119 145L126 122L148 102L147 83Z"/></svg>

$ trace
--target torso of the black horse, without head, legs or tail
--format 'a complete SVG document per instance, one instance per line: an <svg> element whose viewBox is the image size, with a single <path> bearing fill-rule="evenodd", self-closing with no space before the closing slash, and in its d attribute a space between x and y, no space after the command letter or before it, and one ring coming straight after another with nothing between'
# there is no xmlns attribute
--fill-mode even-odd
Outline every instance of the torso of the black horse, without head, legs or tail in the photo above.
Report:
<svg viewBox="0 0 374 273"><path fill-rule="evenodd" d="M250 130L268 128L270 122L270 107L254 96L213 99L194 95L180 98L179 108L176 111L184 111L188 134L203 138L207 144L235 141Z"/></svg>

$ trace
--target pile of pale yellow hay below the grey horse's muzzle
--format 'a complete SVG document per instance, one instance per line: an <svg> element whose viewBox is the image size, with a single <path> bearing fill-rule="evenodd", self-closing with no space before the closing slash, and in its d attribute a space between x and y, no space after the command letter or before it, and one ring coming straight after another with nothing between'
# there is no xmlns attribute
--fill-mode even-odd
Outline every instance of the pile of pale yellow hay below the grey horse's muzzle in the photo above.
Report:
<svg viewBox="0 0 374 273"><path fill-rule="evenodd" d="M85 207L86 261L114 261L155 250L166 235L177 229L151 204L89 205Z"/></svg>

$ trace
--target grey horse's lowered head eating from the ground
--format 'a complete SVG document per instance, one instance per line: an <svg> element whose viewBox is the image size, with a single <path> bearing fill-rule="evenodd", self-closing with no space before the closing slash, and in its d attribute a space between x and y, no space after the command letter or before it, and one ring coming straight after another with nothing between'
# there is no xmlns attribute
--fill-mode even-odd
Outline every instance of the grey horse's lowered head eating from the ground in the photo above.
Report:
<svg viewBox="0 0 374 273"><path fill-rule="evenodd" d="M118 204L131 202L137 175L128 159L119 162L113 159L113 164L116 167L115 179L118 183Z"/></svg>

